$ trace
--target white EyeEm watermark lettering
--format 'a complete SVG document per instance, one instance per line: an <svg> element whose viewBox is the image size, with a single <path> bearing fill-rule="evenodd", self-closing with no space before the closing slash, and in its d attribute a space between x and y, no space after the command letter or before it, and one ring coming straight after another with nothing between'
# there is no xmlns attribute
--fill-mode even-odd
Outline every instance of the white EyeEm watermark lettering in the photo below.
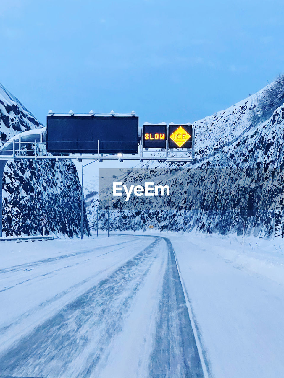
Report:
<svg viewBox="0 0 284 378"><path fill-rule="evenodd" d="M129 200L131 193L140 197L141 195L146 196L160 196L160 195L170 195L170 187L168 185L155 185L154 183L144 183L144 187L142 185L131 185L128 189L126 185L122 185L122 183L113 183L113 195L115 196L122 196L122 191L126 193L126 201Z"/></svg>

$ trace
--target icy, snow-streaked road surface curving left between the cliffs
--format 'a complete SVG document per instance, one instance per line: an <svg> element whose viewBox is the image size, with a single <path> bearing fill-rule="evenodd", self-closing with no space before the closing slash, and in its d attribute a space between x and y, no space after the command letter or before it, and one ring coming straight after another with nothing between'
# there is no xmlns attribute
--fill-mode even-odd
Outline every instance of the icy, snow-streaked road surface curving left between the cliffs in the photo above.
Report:
<svg viewBox="0 0 284 378"><path fill-rule="evenodd" d="M72 248L0 269L1 376L206 378L168 239Z"/></svg>

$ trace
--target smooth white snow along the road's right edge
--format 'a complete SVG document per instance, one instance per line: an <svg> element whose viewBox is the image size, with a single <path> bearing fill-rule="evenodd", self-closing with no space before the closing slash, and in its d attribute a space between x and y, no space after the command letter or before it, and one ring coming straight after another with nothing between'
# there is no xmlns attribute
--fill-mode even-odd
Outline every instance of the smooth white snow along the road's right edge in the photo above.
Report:
<svg viewBox="0 0 284 378"><path fill-rule="evenodd" d="M284 243L170 235L216 378L284 376ZM276 241L277 240L277 241Z"/></svg>

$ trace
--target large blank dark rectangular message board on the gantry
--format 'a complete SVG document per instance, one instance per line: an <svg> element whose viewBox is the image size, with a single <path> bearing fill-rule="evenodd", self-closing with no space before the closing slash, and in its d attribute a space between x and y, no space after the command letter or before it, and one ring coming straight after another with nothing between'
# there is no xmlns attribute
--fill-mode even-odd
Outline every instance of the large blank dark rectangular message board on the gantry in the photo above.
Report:
<svg viewBox="0 0 284 378"><path fill-rule="evenodd" d="M137 153L137 116L47 116L47 152Z"/></svg>

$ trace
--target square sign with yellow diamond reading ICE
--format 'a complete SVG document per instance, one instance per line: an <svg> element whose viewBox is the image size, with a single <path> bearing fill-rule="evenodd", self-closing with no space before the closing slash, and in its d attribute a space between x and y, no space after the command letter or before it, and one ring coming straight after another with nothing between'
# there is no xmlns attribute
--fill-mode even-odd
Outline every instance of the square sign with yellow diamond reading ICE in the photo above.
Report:
<svg viewBox="0 0 284 378"><path fill-rule="evenodd" d="M169 124L169 148L192 148L192 125Z"/></svg>

